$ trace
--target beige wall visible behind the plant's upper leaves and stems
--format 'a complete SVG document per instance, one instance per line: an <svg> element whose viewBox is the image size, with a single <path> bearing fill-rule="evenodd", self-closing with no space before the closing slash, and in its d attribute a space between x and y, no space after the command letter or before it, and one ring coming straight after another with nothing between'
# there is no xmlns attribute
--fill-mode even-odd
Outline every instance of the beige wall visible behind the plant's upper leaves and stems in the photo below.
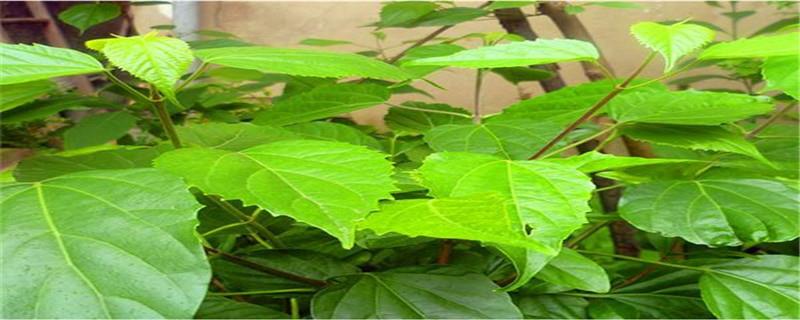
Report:
<svg viewBox="0 0 800 320"><path fill-rule="evenodd" d="M462 6L477 6L480 2L459 1ZM729 28L729 20L703 2L645 2L644 9L611 9L603 7L587 7L579 18L588 27L597 46L606 56L617 74L631 72L647 54L628 32L628 27L639 21L681 20L691 17L696 20L712 22L723 28ZM270 46L296 47L305 38L333 38L350 40L365 46L374 47L375 42L369 32L371 28L361 27L378 19L379 2L340 2L340 1L262 1L262 2L204 2L201 5L201 23L203 28L217 29L234 33L243 39ZM764 2L743 2L740 10L757 9L756 16L745 19L740 27L740 34L748 35L780 17L771 6ZM531 8L525 9L531 12ZM547 17L531 17L531 24L542 38L558 38L561 34ZM403 41L421 38L435 28L387 29L385 47L396 47ZM464 23L443 36L458 36L470 32L502 31L493 19L483 19ZM727 40L726 34L719 34L718 40ZM465 42L465 45L477 46L477 42ZM403 46L387 50L389 56L399 52ZM363 48L354 46L330 47L329 50L360 51ZM586 81L577 63L561 64L562 74L568 83ZM661 62L653 64L644 73L645 76L660 74ZM473 70L445 70L433 75L430 79L447 88L440 90L427 84L418 86L432 93L436 100L454 106L472 106L474 86ZM731 84L709 82L711 87ZM735 84L734 84L735 86ZM524 92L539 94L538 84L523 85ZM481 103L488 112L496 112L502 107L518 100L519 89L491 74L486 78ZM404 95L394 99L429 100L423 96ZM385 109L373 108L357 112L354 117L359 121L379 124Z"/></svg>

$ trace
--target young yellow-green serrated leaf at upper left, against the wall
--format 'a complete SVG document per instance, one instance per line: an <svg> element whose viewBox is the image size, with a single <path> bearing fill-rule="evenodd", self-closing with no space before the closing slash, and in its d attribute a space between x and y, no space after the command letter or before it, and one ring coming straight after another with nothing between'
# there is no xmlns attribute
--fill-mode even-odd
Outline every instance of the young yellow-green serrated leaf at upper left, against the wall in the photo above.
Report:
<svg viewBox="0 0 800 320"><path fill-rule="evenodd" d="M112 64L153 84L171 100L175 100L175 83L194 61L186 42L159 36L157 32L91 40L86 47L102 52Z"/></svg>

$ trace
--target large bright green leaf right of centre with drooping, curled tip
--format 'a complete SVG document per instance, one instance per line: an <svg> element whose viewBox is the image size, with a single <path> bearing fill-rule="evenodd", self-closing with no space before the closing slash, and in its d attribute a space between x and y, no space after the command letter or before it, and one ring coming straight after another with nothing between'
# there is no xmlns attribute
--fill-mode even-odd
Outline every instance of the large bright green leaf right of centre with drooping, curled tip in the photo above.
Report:
<svg viewBox="0 0 800 320"><path fill-rule="evenodd" d="M530 228L530 241L549 250L498 246L515 265L519 287L554 257L561 241L586 222L594 185L581 172L545 161L511 161L471 153L436 153L420 168L423 185L438 198L496 192L509 214Z"/></svg>

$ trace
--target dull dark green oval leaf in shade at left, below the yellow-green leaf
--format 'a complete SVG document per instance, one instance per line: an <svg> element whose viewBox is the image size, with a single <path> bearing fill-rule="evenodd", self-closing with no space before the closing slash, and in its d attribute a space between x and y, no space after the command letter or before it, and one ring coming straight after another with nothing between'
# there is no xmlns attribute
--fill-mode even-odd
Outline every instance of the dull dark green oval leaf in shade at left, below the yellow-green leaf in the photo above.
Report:
<svg viewBox="0 0 800 320"><path fill-rule="evenodd" d="M136 125L136 117L125 111L86 116L64 131L64 149L96 146L120 138Z"/></svg>

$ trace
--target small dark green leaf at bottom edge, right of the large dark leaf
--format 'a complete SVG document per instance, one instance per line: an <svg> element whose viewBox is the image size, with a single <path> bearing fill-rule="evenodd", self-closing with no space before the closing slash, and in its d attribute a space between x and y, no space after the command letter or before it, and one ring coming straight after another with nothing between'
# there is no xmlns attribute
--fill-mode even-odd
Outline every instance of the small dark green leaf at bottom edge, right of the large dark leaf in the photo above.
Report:
<svg viewBox="0 0 800 320"><path fill-rule="evenodd" d="M526 319L586 319L589 302L581 297L535 295L517 299L517 306Z"/></svg>

